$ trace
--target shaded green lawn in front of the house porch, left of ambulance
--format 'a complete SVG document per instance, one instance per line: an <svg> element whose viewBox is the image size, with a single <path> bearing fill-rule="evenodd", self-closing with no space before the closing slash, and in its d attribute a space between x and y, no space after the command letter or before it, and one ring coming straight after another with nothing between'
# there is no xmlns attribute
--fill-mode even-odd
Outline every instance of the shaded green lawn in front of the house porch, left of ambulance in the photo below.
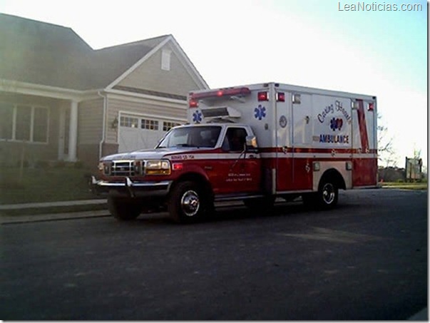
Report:
<svg viewBox="0 0 430 323"><path fill-rule="evenodd" d="M0 204L91 200L85 168L2 168Z"/></svg>

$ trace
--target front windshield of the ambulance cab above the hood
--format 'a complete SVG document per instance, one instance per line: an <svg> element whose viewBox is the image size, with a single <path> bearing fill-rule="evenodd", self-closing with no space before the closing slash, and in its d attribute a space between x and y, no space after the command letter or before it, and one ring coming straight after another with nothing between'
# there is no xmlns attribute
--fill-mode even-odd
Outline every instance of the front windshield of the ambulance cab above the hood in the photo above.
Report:
<svg viewBox="0 0 430 323"><path fill-rule="evenodd" d="M220 136L218 125L173 128L161 140L157 148L207 147L214 148Z"/></svg>

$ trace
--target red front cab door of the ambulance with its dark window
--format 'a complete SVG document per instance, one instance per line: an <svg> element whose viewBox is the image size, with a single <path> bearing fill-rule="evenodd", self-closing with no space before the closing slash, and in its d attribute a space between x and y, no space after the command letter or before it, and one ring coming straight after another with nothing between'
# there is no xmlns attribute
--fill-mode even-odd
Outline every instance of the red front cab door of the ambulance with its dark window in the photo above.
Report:
<svg viewBox="0 0 430 323"><path fill-rule="evenodd" d="M260 188L261 167L257 153L246 153L246 128L227 128L222 141L222 179L219 193L250 193Z"/></svg>

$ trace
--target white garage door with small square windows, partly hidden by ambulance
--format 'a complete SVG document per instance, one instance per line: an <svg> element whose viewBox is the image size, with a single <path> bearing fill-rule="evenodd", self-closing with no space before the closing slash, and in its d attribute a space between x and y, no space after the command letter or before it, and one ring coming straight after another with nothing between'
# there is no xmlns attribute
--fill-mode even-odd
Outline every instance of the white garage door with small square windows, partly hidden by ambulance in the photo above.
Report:
<svg viewBox="0 0 430 323"><path fill-rule="evenodd" d="M118 132L118 153L154 148L163 135L180 123L121 113Z"/></svg>

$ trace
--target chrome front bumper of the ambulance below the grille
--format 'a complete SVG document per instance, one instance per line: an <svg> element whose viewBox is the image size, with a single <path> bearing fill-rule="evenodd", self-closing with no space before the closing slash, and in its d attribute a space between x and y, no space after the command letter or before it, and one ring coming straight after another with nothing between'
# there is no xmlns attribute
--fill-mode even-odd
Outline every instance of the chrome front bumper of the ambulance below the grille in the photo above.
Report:
<svg viewBox="0 0 430 323"><path fill-rule="evenodd" d="M168 195L171 180L160 182L134 181L126 177L123 181L97 180L91 176L90 188L97 195L128 196L130 198L151 198Z"/></svg>

